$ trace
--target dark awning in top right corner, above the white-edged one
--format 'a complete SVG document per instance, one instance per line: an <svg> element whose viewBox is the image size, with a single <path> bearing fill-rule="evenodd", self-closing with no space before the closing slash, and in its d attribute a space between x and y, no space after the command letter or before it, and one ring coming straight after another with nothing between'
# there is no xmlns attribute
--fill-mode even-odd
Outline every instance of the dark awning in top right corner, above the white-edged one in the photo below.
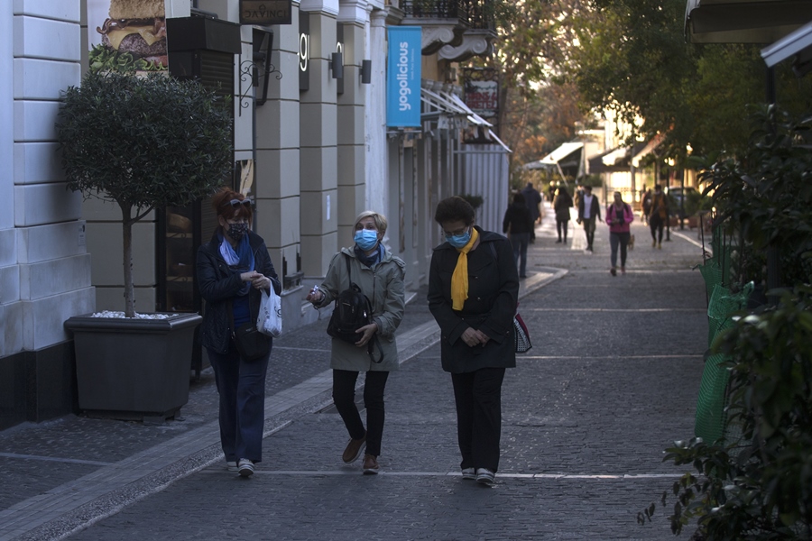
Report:
<svg viewBox="0 0 812 541"><path fill-rule="evenodd" d="M687 0L693 43L772 43L812 21L808 0Z"/></svg>

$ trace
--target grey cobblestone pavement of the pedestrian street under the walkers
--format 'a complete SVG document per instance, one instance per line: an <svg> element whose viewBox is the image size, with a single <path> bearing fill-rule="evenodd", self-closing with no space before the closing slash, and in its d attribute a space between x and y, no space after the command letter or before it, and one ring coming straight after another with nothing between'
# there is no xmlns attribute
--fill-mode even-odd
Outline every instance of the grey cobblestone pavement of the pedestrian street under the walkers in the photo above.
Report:
<svg viewBox="0 0 812 541"><path fill-rule="evenodd" d="M0 540L666 539L636 524L683 472L662 463L693 434L706 298L696 232L651 248L643 225L628 272L609 272L570 222L547 212L531 244L520 312L533 349L503 386L503 453L488 489L458 473L456 418L425 289L399 332L406 359L387 385L382 473L340 460L346 430L328 396L318 322L274 344L267 436L253 478L227 472L210 371L182 421L158 426L68 416L0 433Z"/></svg>

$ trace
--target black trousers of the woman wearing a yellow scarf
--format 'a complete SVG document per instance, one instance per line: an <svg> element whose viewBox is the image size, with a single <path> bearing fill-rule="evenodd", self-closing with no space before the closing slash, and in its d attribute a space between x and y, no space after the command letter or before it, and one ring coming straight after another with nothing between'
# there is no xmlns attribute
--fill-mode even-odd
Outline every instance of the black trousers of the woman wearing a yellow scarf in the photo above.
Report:
<svg viewBox="0 0 812 541"><path fill-rule="evenodd" d="M487 468L492 472L499 469L503 380L503 368L451 374L462 469Z"/></svg>

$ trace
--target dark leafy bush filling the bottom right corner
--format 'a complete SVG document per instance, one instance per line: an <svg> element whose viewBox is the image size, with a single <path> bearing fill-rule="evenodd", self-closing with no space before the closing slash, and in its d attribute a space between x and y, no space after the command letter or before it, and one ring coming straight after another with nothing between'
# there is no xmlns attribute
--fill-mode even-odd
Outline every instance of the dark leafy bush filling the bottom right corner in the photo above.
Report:
<svg viewBox="0 0 812 541"><path fill-rule="evenodd" d="M812 539L812 287L741 316L715 340L731 362L729 418L741 436L676 442L665 461L691 464L674 483L679 534L697 519L710 540ZM729 436L730 437L730 436ZM662 496L665 507L668 493ZM638 521L651 520L655 504Z"/></svg>

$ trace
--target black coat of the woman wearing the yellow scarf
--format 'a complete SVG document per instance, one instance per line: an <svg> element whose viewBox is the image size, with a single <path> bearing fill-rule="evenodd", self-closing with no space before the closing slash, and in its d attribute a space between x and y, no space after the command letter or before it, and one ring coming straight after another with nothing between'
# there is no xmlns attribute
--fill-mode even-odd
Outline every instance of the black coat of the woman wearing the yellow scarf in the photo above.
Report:
<svg viewBox="0 0 812 541"><path fill-rule="evenodd" d="M479 232L479 245L468 252L468 298L462 310L451 307L451 275L459 252L449 243L434 249L429 270L429 310L437 319L442 338L443 370L451 373L480 368L516 366L513 315L519 297L519 275L511 243L501 234ZM490 340L469 347L460 339L468 327Z"/></svg>

